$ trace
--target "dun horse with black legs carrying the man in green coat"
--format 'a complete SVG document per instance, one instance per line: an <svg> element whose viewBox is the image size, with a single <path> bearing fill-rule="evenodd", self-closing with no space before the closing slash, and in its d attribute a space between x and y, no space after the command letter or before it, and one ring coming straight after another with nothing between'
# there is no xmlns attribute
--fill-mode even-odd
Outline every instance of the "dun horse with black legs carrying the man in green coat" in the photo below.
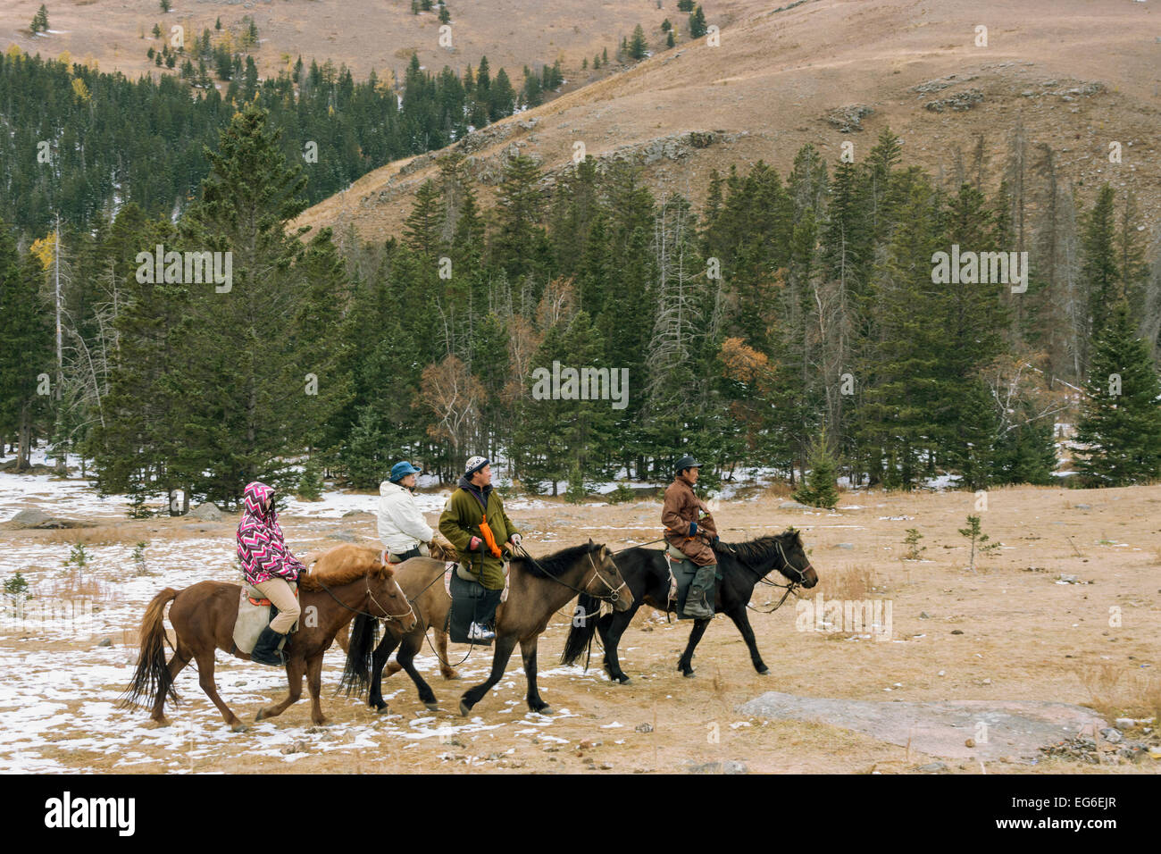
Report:
<svg viewBox="0 0 1161 854"><path fill-rule="evenodd" d="M420 622L435 626L441 632L447 620L447 610L452 604L444 591L441 581L434 581L444 570L444 564L428 558L412 558L396 569L401 576L412 574L424 583L431 583L434 590L426 598L417 602L417 610L423 611ZM578 593L599 607L601 601L612 604L614 611L626 611L633 605L633 596L618 572L608 548L590 540L585 545L571 546L545 558L533 559L531 555L514 557L511 562L507 602L496 611L496 647L492 654L492 672L488 680L469 688L460 698L460 713L468 715L471 708L504 676L509 659L520 644L524 658L524 672L528 681L527 703L532 711L550 715L553 710L546 703L536 688L536 641L548 626L548 620L557 610ZM391 650L399 643L398 630L392 629L384 636L374 656L367 651L374 644L372 620L360 620L352 629L351 650L347 655L345 679L355 686L370 683L368 703L382 709L385 704L381 692L382 668ZM412 633L405 643L409 648L418 650L423 643L423 633ZM444 646L446 650L446 645ZM401 665L419 688L420 698L428 708L434 705L435 697L431 688L411 666L411 652L406 656L401 651ZM372 660L368 660L372 658ZM368 674L368 667L370 673Z"/></svg>

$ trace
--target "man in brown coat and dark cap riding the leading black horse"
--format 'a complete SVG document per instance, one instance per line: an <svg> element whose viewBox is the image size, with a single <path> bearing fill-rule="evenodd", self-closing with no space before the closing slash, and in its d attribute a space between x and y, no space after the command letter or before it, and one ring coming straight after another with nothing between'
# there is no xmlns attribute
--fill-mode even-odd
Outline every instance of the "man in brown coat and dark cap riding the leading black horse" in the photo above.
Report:
<svg viewBox="0 0 1161 854"><path fill-rule="evenodd" d="M709 619L714 616L714 609L706 593L713 589L717 574L717 557L713 546L717 544L719 537L713 514L693 491L700 468L701 464L690 455L677 461L677 474L665 489L661 523L665 526L665 541L698 567L685 600L685 615L694 619Z"/></svg>

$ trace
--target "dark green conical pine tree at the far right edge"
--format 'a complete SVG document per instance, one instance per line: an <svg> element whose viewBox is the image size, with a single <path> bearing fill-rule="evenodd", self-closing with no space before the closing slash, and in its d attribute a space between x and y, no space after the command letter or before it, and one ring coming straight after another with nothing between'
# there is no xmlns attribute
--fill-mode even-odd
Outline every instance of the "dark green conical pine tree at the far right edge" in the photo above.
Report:
<svg viewBox="0 0 1161 854"><path fill-rule="evenodd" d="M1076 425L1075 466L1086 486L1161 478L1161 381L1122 297L1093 346Z"/></svg>

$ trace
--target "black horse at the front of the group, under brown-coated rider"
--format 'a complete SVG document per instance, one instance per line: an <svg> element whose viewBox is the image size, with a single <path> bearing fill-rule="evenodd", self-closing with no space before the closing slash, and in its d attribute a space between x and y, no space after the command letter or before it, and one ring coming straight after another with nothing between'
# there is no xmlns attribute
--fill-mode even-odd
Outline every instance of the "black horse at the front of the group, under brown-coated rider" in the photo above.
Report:
<svg viewBox="0 0 1161 854"><path fill-rule="evenodd" d="M802 534L792 528L783 533L767 534L745 543L719 540L714 553L717 555L717 568L722 575L722 580L714 587L714 611L724 613L734 620L734 625L750 648L753 668L765 675L770 670L758 654L758 644L753 637L753 629L750 627L745 607L750 602L753 586L774 569L806 588L819 583L819 575L810 566L810 559L802 547ZM561 661L565 665L575 663L586 650L591 648L593 632L598 631L600 641L605 646L605 670L611 679L623 684L629 677L621 670L616 645L633 615L642 604L652 605L662 611L676 611L677 604L669 601L669 567L661 550L626 548L616 552L614 559L633 593L633 607L626 611L594 618L599 613L600 602L591 596L580 596L577 607L583 610L578 610L577 618L572 620ZM693 650L705 634L707 625L709 625L708 619L693 620L690 643L686 644L685 652L677 662L677 668L686 676L693 675Z"/></svg>

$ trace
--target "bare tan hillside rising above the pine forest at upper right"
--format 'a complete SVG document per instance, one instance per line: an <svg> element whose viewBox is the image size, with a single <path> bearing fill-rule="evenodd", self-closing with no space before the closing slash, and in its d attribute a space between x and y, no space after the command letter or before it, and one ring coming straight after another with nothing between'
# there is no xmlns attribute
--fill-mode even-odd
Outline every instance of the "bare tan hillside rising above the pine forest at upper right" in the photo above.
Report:
<svg viewBox="0 0 1161 854"><path fill-rule="evenodd" d="M907 164L949 179L975 174L982 137L982 174L994 186L1019 122L1030 146L1050 145L1082 193L1104 180L1131 186L1152 232L1161 213L1161 15L1149 6L807 0L771 10L741 0L729 5L735 23L722 28L720 46L700 40L659 52L459 146L485 186L510 152L531 153L553 172L568 166L579 141L590 157L632 159L655 189L700 201L711 168L760 158L785 174L806 143L834 163L851 142L858 159L888 125ZM980 24L987 46L975 44ZM872 110L861 130L831 115L851 106ZM1112 142L1122 145L1119 165L1109 163ZM374 239L398 234L438 153L365 175L300 222L353 223Z"/></svg>

